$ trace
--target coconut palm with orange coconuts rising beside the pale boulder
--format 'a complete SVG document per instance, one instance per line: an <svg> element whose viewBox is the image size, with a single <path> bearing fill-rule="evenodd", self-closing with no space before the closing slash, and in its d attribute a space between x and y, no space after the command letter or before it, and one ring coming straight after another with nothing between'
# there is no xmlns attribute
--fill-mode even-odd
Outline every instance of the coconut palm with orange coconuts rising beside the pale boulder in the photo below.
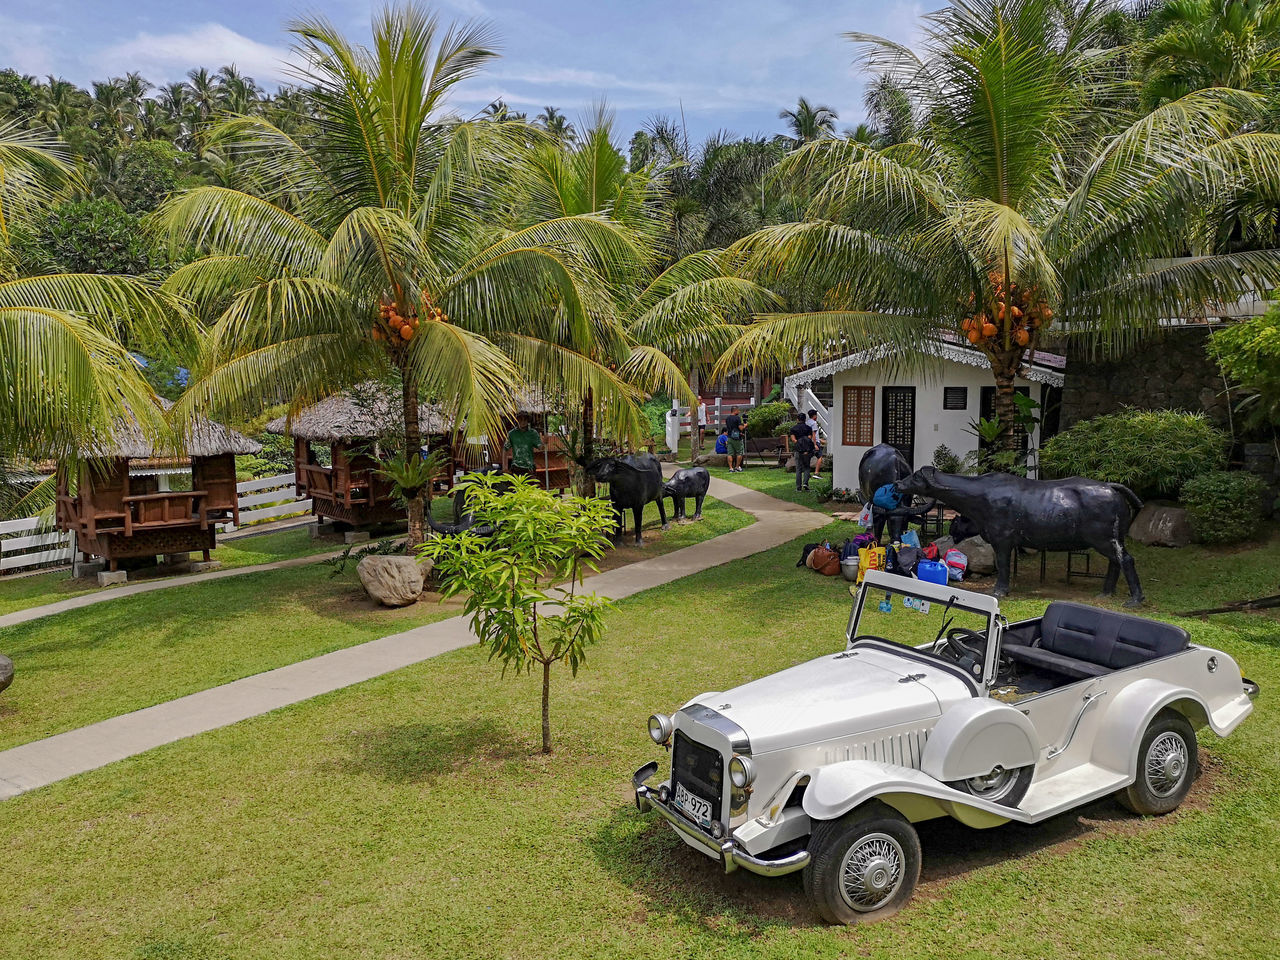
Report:
<svg viewBox="0 0 1280 960"><path fill-rule="evenodd" d="M585 253L609 264L634 244L600 218L499 229L492 201L529 128L462 122L445 108L453 86L495 56L486 26L442 27L402 6L372 29L366 49L323 18L292 23L316 111L310 136L260 116L224 122L215 142L251 151L261 195L197 188L159 220L204 255L168 287L211 323L179 408L248 413L280 393L301 404L394 379L404 454L416 456L420 398L460 429L494 434L522 378L486 334L598 325L609 305ZM411 547L421 538L413 498Z"/></svg>

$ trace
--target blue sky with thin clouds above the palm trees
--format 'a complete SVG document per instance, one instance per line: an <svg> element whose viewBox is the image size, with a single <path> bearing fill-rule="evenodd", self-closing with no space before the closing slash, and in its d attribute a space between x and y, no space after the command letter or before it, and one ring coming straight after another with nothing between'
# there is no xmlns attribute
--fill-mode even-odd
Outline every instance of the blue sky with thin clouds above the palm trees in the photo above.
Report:
<svg viewBox="0 0 1280 960"><path fill-rule="evenodd" d="M492 20L503 56L454 97L474 113L495 97L576 119L604 97L631 131L684 110L690 133L782 129L796 97L863 119L861 77L846 31L910 41L928 6L911 0L442 0L445 18ZM936 4L932 4L936 5ZM140 70L160 83L234 63L271 87L289 78L285 23L321 13L348 36L369 35L371 4L356 0L4 0L0 67L92 79Z"/></svg>

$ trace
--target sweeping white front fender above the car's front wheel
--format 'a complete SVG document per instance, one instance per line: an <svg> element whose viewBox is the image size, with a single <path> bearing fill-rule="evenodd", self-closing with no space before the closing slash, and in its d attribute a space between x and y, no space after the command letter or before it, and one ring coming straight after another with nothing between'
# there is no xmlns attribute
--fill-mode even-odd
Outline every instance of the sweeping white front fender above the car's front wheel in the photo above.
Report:
<svg viewBox="0 0 1280 960"><path fill-rule="evenodd" d="M955 817L970 827L997 827L1025 819L1019 810L970 797L918 769L878 760L842 760L809 771L800 805L817 822L844 817L868 800L892 806L911 823Z"/></svg>

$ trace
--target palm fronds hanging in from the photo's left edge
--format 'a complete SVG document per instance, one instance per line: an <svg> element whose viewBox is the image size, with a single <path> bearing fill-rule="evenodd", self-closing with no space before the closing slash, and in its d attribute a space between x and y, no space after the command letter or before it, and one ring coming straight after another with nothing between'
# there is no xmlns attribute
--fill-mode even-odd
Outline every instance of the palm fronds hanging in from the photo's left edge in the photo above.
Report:
<svg viewBox="0 0 1280 960"><path fill-rule="evenodd" d="M12 230L55 204L73 175L63 145L0 127L0 457L74 454L129 412L163 431L125 343L180 338L168 302L129 276L23 276L13 256Z"/></svg>

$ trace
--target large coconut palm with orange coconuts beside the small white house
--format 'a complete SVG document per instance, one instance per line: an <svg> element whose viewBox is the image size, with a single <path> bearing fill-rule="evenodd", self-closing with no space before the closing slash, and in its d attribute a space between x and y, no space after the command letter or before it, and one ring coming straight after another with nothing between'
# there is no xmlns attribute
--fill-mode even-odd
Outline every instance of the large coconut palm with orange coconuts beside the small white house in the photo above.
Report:
<svg viewBox="0 0 1280 960"><path fill-rule="evenodd" d="M812 191L801 223L737 252L767 280L799 278L820 310L763 317L721 358L782 365L883 348L925 361L966 337L996 383L1000 439L1016 443L1014 379L1059 323L1082 346L1134 346L1160 317L1280 282L1276 251L1183 256L1198 211L1280 183L1280 137L1248 127L1254 95L1215 88L1137 119L1098 116L1106 8L1088 0L954 0L915 54L850 35L909 91L924 136L883 151L819 141L782 164ZM1114 124L1100 129L1100 120Z"/></svg>

